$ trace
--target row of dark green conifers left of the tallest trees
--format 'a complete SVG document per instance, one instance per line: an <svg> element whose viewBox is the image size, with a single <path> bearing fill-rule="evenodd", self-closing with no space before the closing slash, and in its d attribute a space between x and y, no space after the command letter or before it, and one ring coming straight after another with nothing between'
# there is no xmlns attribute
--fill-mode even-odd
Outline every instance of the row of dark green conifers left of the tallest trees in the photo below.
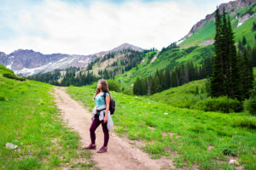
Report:
<svg viewBox="0 0 256 170"><path fill-rule="evenodd" d="M211 77L211 75L211 58L205 59L200 66L192 61L188 61L185 65L177 65L174 68L167 65L165 69L155 71L154 76L137 77L133 84L133 94L155 94L168 88L181 86L184 83Z"/></svg>

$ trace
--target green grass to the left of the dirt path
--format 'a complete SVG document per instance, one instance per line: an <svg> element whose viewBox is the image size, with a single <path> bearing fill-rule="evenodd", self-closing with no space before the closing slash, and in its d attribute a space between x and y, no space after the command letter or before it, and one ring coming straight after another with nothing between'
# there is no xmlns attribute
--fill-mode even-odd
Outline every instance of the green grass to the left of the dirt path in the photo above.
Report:
<svg viewBox="0 0 256 170"><path fill-rule="evenodd" d="M13 71L0 65L0 169L62 169L83 158L79 135L61 121L49 94L52 86L4 73ZM7 143L18 148L6 149ZM95 168L90 157L81 163Z"/></svg>

